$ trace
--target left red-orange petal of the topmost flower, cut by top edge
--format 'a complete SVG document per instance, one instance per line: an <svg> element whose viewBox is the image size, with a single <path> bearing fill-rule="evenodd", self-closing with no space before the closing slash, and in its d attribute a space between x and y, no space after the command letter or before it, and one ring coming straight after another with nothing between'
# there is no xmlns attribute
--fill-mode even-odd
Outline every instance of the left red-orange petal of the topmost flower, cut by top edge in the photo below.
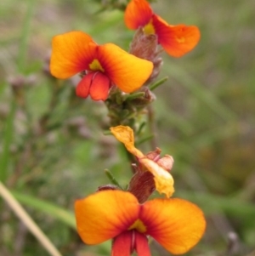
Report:
<svg viewBox="0 0 255 256"><path fill-rule="evenodd" d="M124 14L125 24L129 29L137 29L149 23L153 12L146 0L131 0Z"/></svg>

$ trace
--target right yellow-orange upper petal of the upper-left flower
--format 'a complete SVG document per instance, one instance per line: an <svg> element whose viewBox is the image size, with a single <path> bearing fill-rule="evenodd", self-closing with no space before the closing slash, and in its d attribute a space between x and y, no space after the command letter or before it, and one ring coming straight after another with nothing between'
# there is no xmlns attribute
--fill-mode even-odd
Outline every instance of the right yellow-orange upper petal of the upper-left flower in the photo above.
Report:
<svg viewBox="0 0 255 256"><path fill-rule="evenodd" d="M152 62L127 54L113 43L99 46L98 60L105 70L105 75L125 93L140 88L153 70Z"/></svg>

